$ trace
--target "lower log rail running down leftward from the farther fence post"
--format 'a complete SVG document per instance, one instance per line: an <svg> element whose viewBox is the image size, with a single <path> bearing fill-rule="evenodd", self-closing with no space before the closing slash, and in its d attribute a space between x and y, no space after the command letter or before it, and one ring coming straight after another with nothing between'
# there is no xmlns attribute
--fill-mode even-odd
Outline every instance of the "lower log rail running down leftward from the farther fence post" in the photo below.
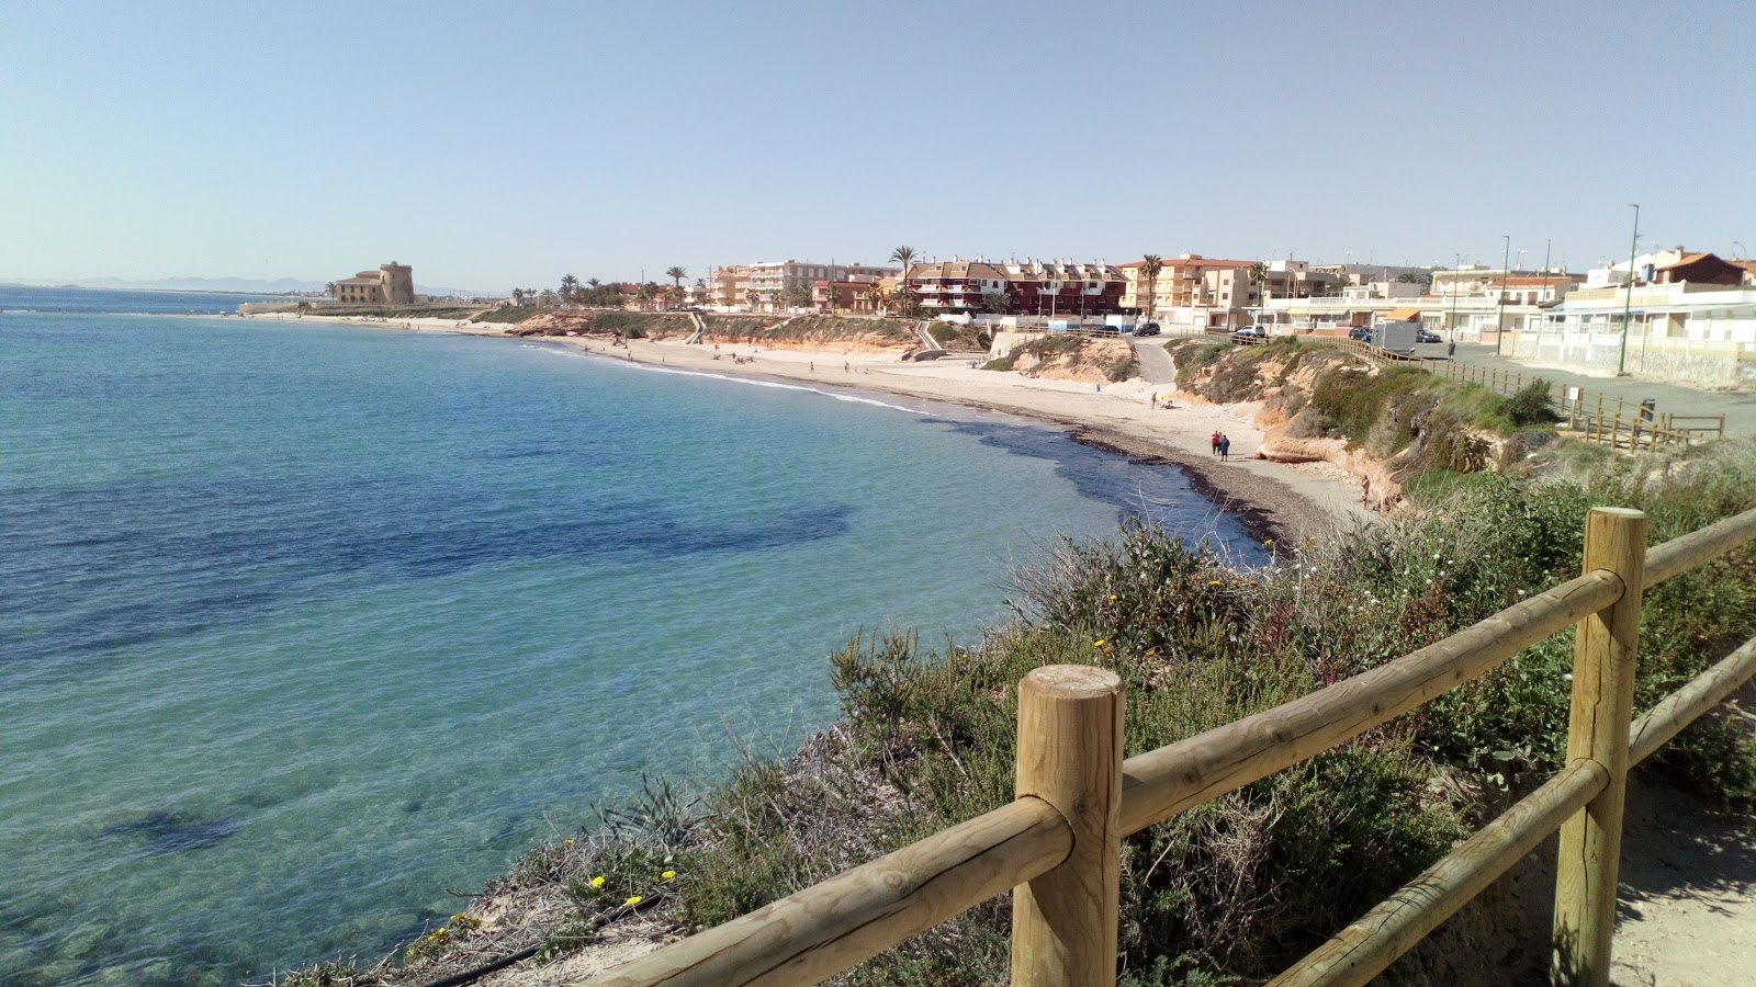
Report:
<svg viewBox="0 0 1756 987"><path fill-rule="evenodd" d="M1268 987L1366 983L1561 829L1608 782L1596 760L1568 764Z"/></svg>

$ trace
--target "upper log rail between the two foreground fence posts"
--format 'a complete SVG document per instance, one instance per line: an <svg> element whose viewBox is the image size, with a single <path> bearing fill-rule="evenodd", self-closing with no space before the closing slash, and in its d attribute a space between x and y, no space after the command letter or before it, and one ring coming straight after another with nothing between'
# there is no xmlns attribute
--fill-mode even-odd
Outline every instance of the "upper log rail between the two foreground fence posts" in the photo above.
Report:
<svg viewBox="0 0 1756 987"><path fill-rule="evenodd" d="M1401 717L1621 595L1612 573L1586 573L1394 662L1129 757L1122 762L1122 832L1140 832Z"/></svg>

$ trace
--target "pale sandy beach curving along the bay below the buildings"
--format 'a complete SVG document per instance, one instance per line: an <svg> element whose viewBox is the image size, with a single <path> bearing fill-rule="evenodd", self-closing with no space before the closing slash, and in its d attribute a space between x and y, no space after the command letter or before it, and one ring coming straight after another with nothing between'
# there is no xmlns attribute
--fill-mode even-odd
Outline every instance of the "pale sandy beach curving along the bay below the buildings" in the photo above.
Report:
<svg viewBox="0 0 1756 987"><path fill-rule="evenodd" d="M300 321L290 314L244 316ZM365 328L446 332L506 339L504 323L457 320L388 320L306 316ZM1171 385L1143 379L1085 385L1027 378L971 367L971 358L903 362L894 351L771 349L748 344L697 344L632 339L611 346L595 337L539 337L587 349L604 358L658 364L743 378L773 378L832 390L866 390L1018 414L1068 429L1075 439L1124 453L1140 462L1182 467L1198 492L1236 515L1257 537L1322 537L1338 525L1370 516L1359 504L1357 479L1329 464L1282 465L1256 458L1263 434L1250 427L1256 404L1187 404L1152 407L1154 393ZM1148 342L1150 346L1150 342ZM753 360L738 362L738 358ZM1229 462L1210 451L1210 436L1231 437Z"/></svg>

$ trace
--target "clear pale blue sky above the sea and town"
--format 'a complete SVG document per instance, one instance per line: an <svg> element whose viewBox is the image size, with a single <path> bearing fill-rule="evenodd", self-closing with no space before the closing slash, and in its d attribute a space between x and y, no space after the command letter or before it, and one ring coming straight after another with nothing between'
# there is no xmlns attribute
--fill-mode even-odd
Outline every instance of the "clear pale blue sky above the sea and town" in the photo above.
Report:
<svg viewBox="0 0 1756 987"><path fill-rule="evenodd" d="M0 279L1751 256L1756 4L0 0Z"/></svg>

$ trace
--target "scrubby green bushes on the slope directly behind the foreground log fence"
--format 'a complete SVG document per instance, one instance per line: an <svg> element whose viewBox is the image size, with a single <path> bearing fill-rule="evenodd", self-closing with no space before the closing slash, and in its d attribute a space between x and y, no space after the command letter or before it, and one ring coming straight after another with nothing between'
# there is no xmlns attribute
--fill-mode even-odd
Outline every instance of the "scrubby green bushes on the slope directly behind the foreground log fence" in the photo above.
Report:
<svg viewBox="0 0 1756 987"><path fill-rule="evenodd" d="M797 755L752 759L692 801L653 783L530 852L490 892L564 913L543 933L544 955L588 945L632 908L678 933L723 922L1008 801L1015 683L1036 666L1115 669L1126 750L1150 750L1577 574L1591 504L1640 508L1652 541L1670 539L1756 506L1756 450L1617 458L1572 481L1479 474L1419 516L1275 546L1263 569L1136 525L1106 544L1062 544L1018 576L1015 618L980 645L932 653L908 632L855 638L829 667L843 718ZM1756 553L1742 551L1647 594L1637 708L1756 632L1752 567ZM1559 634L1350 745L1129 838L1120 982L1259 978L1443 855L1561 764L1572 648L1572 632ZM1730 720L1703 718L1649 764L1710 797L1756 801L1756 743ZM455 922L418 941L407 969L374 978L469 966L488 934ZM839 982L1004 982L1006 943L996 899Z"/></svg>

